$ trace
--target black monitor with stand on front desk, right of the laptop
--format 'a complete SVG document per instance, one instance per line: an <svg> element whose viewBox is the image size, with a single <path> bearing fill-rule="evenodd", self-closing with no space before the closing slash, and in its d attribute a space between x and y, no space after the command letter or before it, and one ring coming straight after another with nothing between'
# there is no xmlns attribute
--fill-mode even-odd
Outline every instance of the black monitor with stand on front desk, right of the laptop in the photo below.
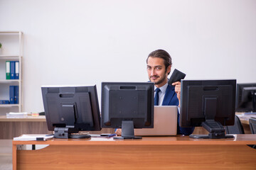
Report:
<svg viewBox="0 0 256 170"><path fill-rule="evenodd" d="M181 80L181 127L203 126L208 135L193 138L227 138L223 125L234 125L236 80Z"/></svg>

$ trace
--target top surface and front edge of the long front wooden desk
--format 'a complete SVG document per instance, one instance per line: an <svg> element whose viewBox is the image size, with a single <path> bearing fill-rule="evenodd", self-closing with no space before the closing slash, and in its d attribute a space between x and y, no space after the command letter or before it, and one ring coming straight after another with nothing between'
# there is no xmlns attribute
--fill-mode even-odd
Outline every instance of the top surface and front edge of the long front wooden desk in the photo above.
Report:
<svg viewBox="0 0 256 170"><path fill-rule="evenodd" d="M142 137L141 140L114 140L113 137L90 139L53 139L47 141L13 141L13 145L256 145L256 135L235 135L228 139L193 139L188 136Z"/></svg>

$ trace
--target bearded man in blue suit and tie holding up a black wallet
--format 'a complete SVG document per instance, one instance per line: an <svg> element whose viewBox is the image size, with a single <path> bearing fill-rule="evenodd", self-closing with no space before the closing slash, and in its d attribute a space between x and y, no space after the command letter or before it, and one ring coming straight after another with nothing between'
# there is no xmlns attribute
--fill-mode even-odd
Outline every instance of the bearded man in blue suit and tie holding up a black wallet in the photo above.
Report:
<svg viewBox="0 0 256 170"><path fill-rule="evenodd" d="M158 102L155 100L155 105L159 106L178 106L181 98L181 82L168 84L167 76L171 72L171 56L165 50L155 50L149 54L146 59L146 70L149 76L149 81L155 85L155 98L158 95ZM158 91L158 92L156 92ZM191 135L194 128L181 128L179 126L179 113L177 119L177 134ZM122 134L121 129L116 130L117 135Z"/></svg>

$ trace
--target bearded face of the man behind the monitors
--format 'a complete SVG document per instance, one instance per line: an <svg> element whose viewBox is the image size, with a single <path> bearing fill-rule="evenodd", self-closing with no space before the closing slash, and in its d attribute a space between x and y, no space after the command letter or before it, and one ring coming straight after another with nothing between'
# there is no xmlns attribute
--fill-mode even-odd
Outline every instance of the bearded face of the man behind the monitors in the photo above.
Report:
<svg viewBox="0 0 256 170"><path fill-rule="evenodd" d="M153 82L157 87L164 86L167 83L168 73L171 71L171 66L164 66L164 60L159 57L149 57L146 65L146 70L149 76L149 81Z"/></svg>

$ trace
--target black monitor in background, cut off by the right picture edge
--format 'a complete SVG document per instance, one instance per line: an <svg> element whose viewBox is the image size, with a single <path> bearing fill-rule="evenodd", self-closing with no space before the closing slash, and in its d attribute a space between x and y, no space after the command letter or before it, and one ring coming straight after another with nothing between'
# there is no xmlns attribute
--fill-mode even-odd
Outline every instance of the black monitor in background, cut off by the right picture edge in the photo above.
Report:
<svg viewBox="0 0 256 170"><path fill-rule="evenodd" d="M256 83L237 84L235 111L256 112Z"/></svg>

